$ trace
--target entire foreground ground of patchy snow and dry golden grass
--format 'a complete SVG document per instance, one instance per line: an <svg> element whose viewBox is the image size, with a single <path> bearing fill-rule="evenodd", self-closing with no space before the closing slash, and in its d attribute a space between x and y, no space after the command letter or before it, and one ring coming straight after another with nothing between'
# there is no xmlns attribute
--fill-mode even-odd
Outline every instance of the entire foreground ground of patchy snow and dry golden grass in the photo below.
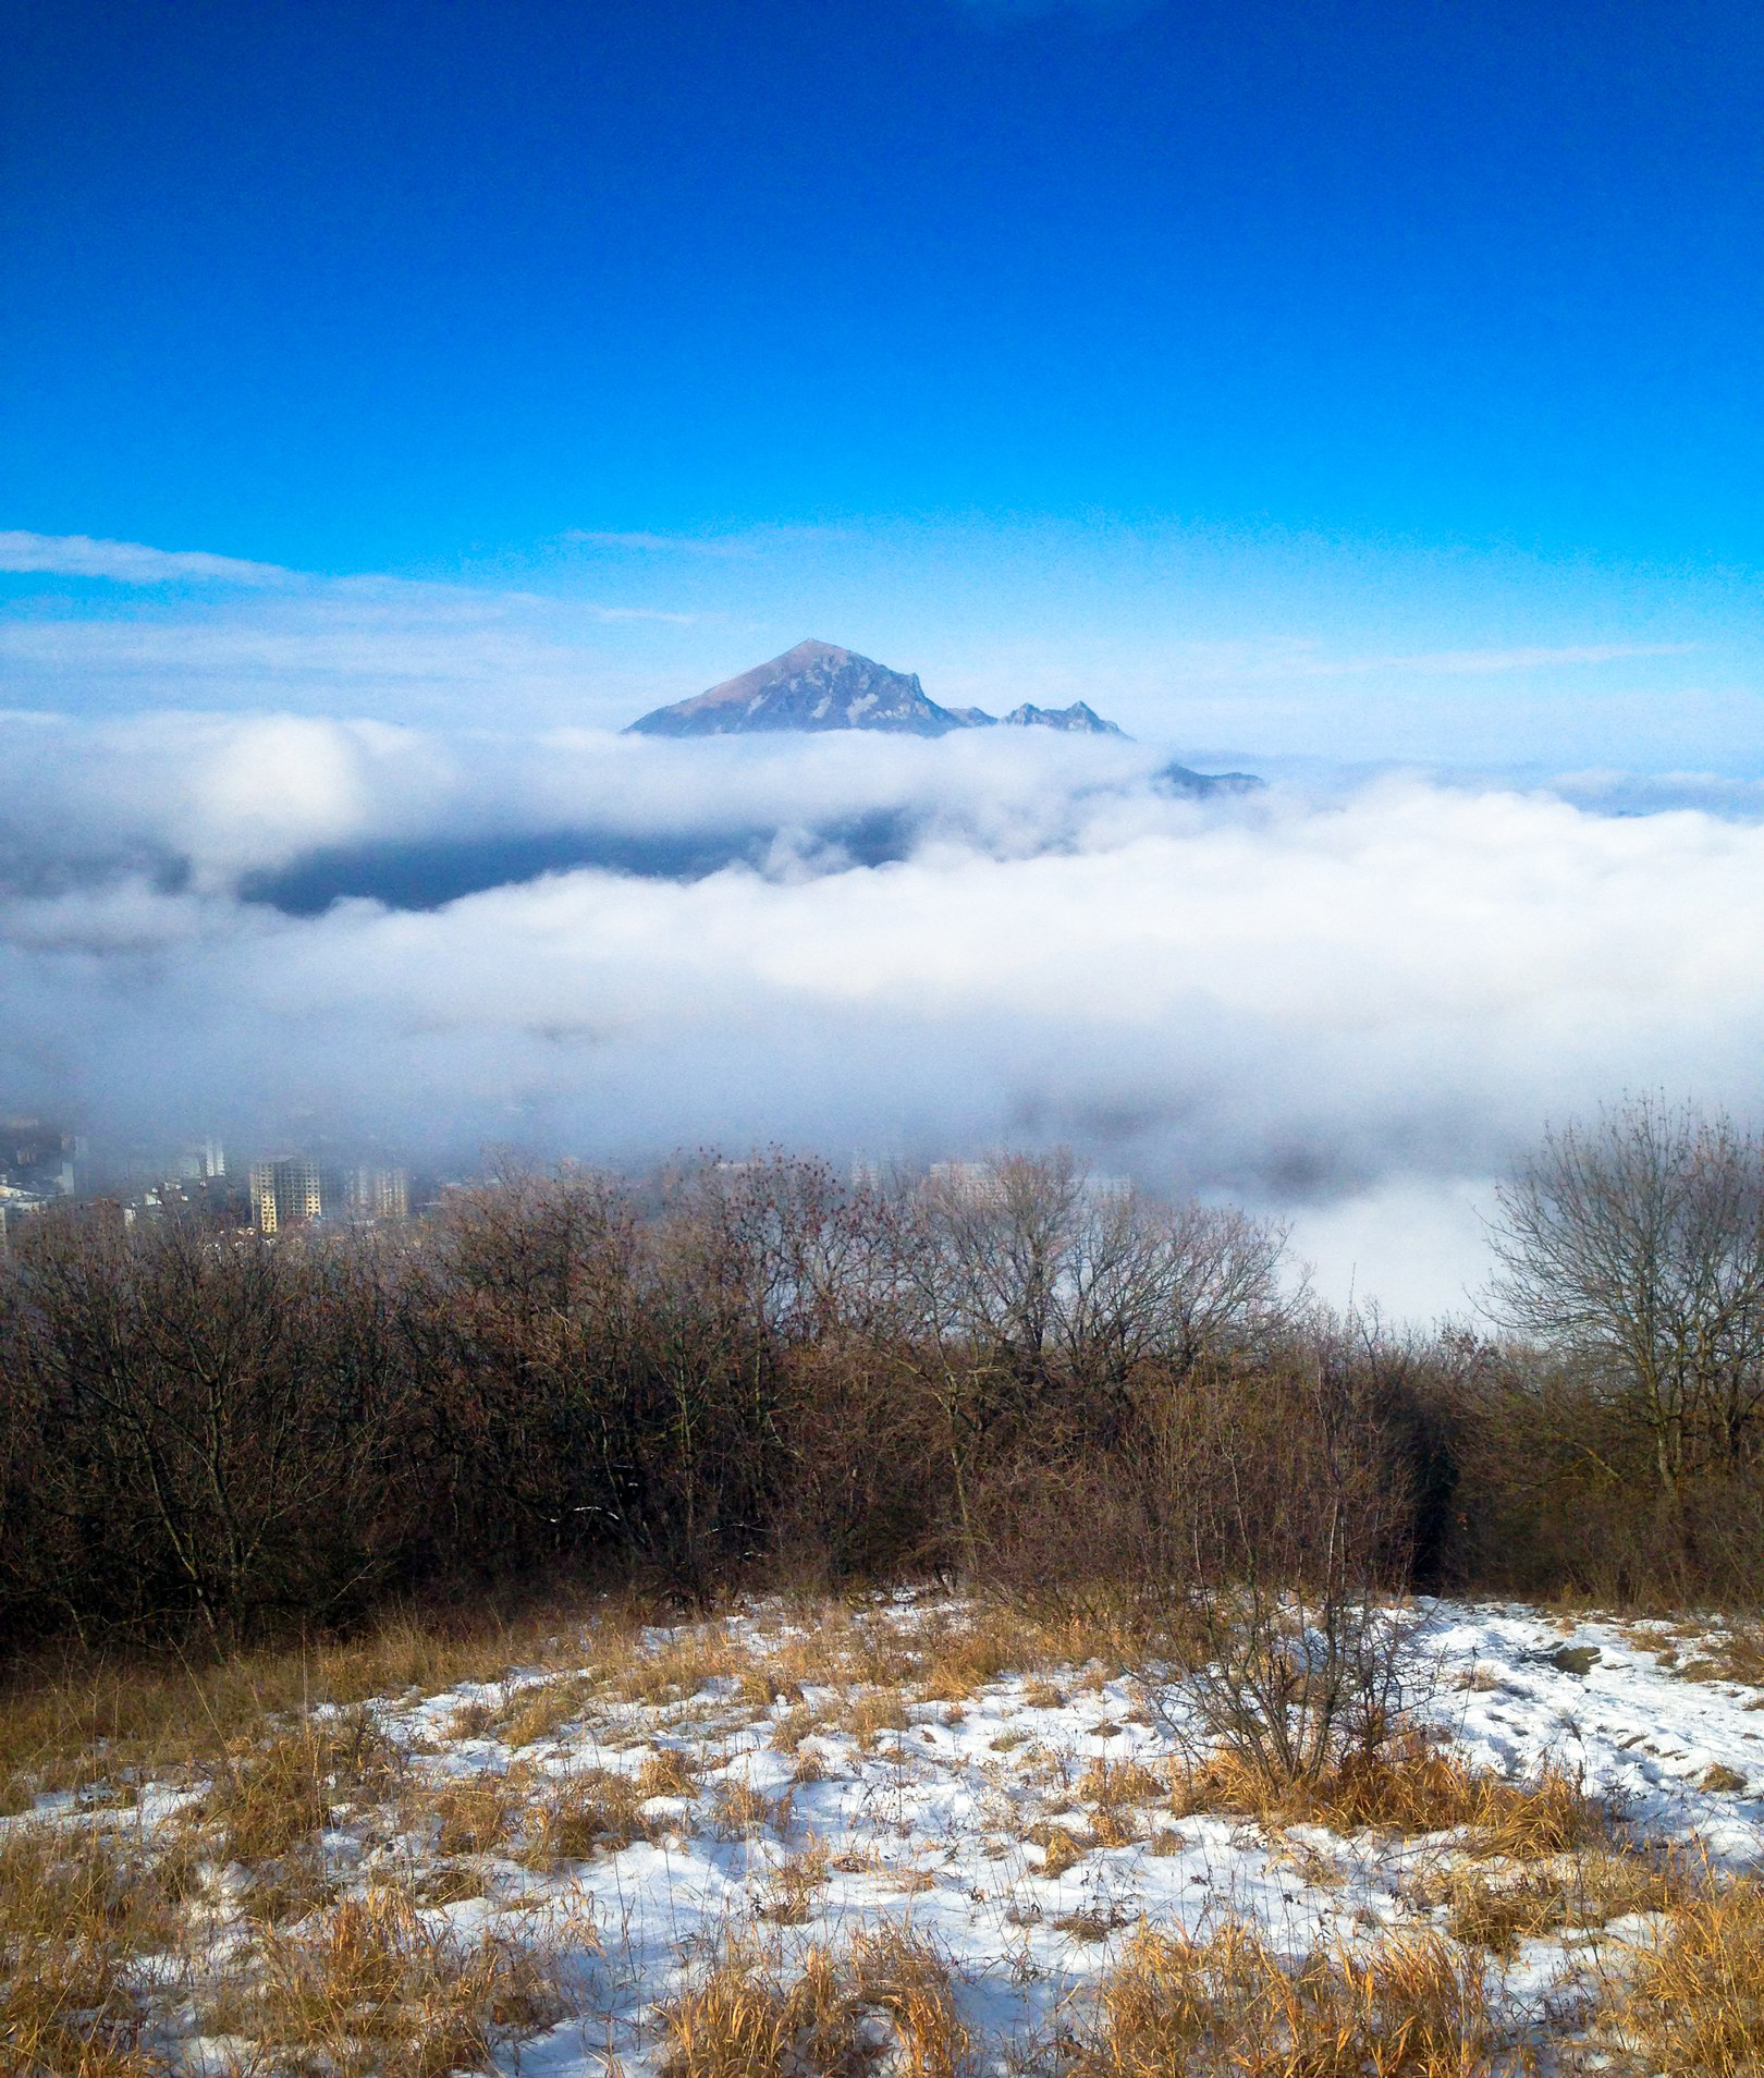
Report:
<svg viewBox="0 0 1764 2078"><path fill-rule="evenodd" d="M1415 1619L1284 1793L1145 1635L929 1596L19 1702L6 2068L1764 2068L1758 1633Z"/></svg>

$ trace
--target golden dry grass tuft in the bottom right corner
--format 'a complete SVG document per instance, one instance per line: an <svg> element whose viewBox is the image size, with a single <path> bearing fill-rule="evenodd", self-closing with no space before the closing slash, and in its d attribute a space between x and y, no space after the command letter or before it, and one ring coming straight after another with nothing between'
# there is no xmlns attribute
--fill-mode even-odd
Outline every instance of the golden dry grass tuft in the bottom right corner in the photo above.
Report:
<svg viewBox="0 0 1764 2078"><path fill-rule="evenodd" d="M1648 2070L1764 2072L1764 1883L1683 1897L1629 1980L1608 1987L1604 2024Z"/></svg>

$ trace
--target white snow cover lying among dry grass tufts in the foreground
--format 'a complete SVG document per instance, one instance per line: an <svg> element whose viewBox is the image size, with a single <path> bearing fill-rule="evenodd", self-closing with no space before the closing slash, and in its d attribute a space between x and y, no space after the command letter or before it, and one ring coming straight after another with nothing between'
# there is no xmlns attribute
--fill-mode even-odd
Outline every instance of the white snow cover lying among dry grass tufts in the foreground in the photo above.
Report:
<svg viewBox="0 0 1764 2078"><path fill-rule="evenodd" d="M1764 1860L1764 1664L1720 1623L1450 1602L1417 1617L1417 1714L1446 1750L1508 1781L1554 1766L1639 1843L1727 1872ZM659 2005L746 1928L787 1970L810 1943L910 1926L947 1957L987 2061L1028 2053L1147 1922L1201 1935L1247 1922L1288 1955L1448 1926L1456 1835L1178 1816L1164 1785L1180 1766L1180 1691L1103 1662L964 1689L939 1677L935 1650L964 1621L956 1604L900 1596L856 1621L829 1613L839 1640L823 1652L814 1613L754 1604L642 1633L627 1656L657 1664L650 1683L609 1679L603 1648L584 1679L549 1667L376 1702L372 1719L403 1756L401 1791L345 1806L326 1860L345 1891L393 1879L420 1895L424 1883L440 1889L445 1862L455 1901L430 1908L434 1924L511 1939L551 1926L573 1943L582 2009L519 2049L519 2070L546 2074L600 2072L609 2057L632 2074L659 2068ZM923 1658L902 1658L916 1642L929 1642ZM862 1679L866 1660L881 1679ZM519 1820L478 1854L443 1858L422 1816L449 1787L499 1779L528 1804L598 1781L592 1770L636 1783L648 1768L657 1783L667 1756L684 1770L673 1793L625 1802L644 1837L615 1835L565 1864L522 1851ZM172 1829L199 1789L139 1785L129 1822ZM46 1800L10 1824L73 1816ZM1573 2009L1596 1957L1635 1935L1633 1918L1556 1928L1504 1957L1477 1949L1477 1968L1515 2030L1538 2032ZM231 1939L224 1926L216 1937Z"/></svg>

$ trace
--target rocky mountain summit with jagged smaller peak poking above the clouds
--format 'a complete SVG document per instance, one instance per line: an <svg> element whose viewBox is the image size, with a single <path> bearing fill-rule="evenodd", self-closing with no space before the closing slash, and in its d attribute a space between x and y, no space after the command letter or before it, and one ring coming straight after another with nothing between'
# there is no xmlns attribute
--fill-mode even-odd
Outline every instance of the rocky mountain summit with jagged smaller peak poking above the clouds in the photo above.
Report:
<svg viewBox="0 0 1764 2078"><path fill-rule="evenodd" d="M634 736L746 736L760 729L887 729L893 736L947 736L952 729L1066 729L1080 736L1122 736L1083 700L1072 707L1012 709L939 707L916 671L889 671L835 642L798 642L709 692L634 721Z"/></svg>

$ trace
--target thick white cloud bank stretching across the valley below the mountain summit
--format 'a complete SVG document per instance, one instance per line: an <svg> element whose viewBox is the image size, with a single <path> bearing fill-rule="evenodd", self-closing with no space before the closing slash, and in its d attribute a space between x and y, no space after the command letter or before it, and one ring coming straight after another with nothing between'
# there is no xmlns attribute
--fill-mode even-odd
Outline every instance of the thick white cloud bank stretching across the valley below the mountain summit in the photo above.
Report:
<svg viewBox="0 0 1764 2078"><path fill-rule="evenodd" d="M0 1095L100 1130L1068 1141L1328 1207L1484 1178L1623 1089L1760 1089L1764 829L1731 792L1197 804L1139 746L274 717L12 717L4 750ZM445 900L472 848L569 871ZM426 906L326 906L364 858Z"/></svg>

